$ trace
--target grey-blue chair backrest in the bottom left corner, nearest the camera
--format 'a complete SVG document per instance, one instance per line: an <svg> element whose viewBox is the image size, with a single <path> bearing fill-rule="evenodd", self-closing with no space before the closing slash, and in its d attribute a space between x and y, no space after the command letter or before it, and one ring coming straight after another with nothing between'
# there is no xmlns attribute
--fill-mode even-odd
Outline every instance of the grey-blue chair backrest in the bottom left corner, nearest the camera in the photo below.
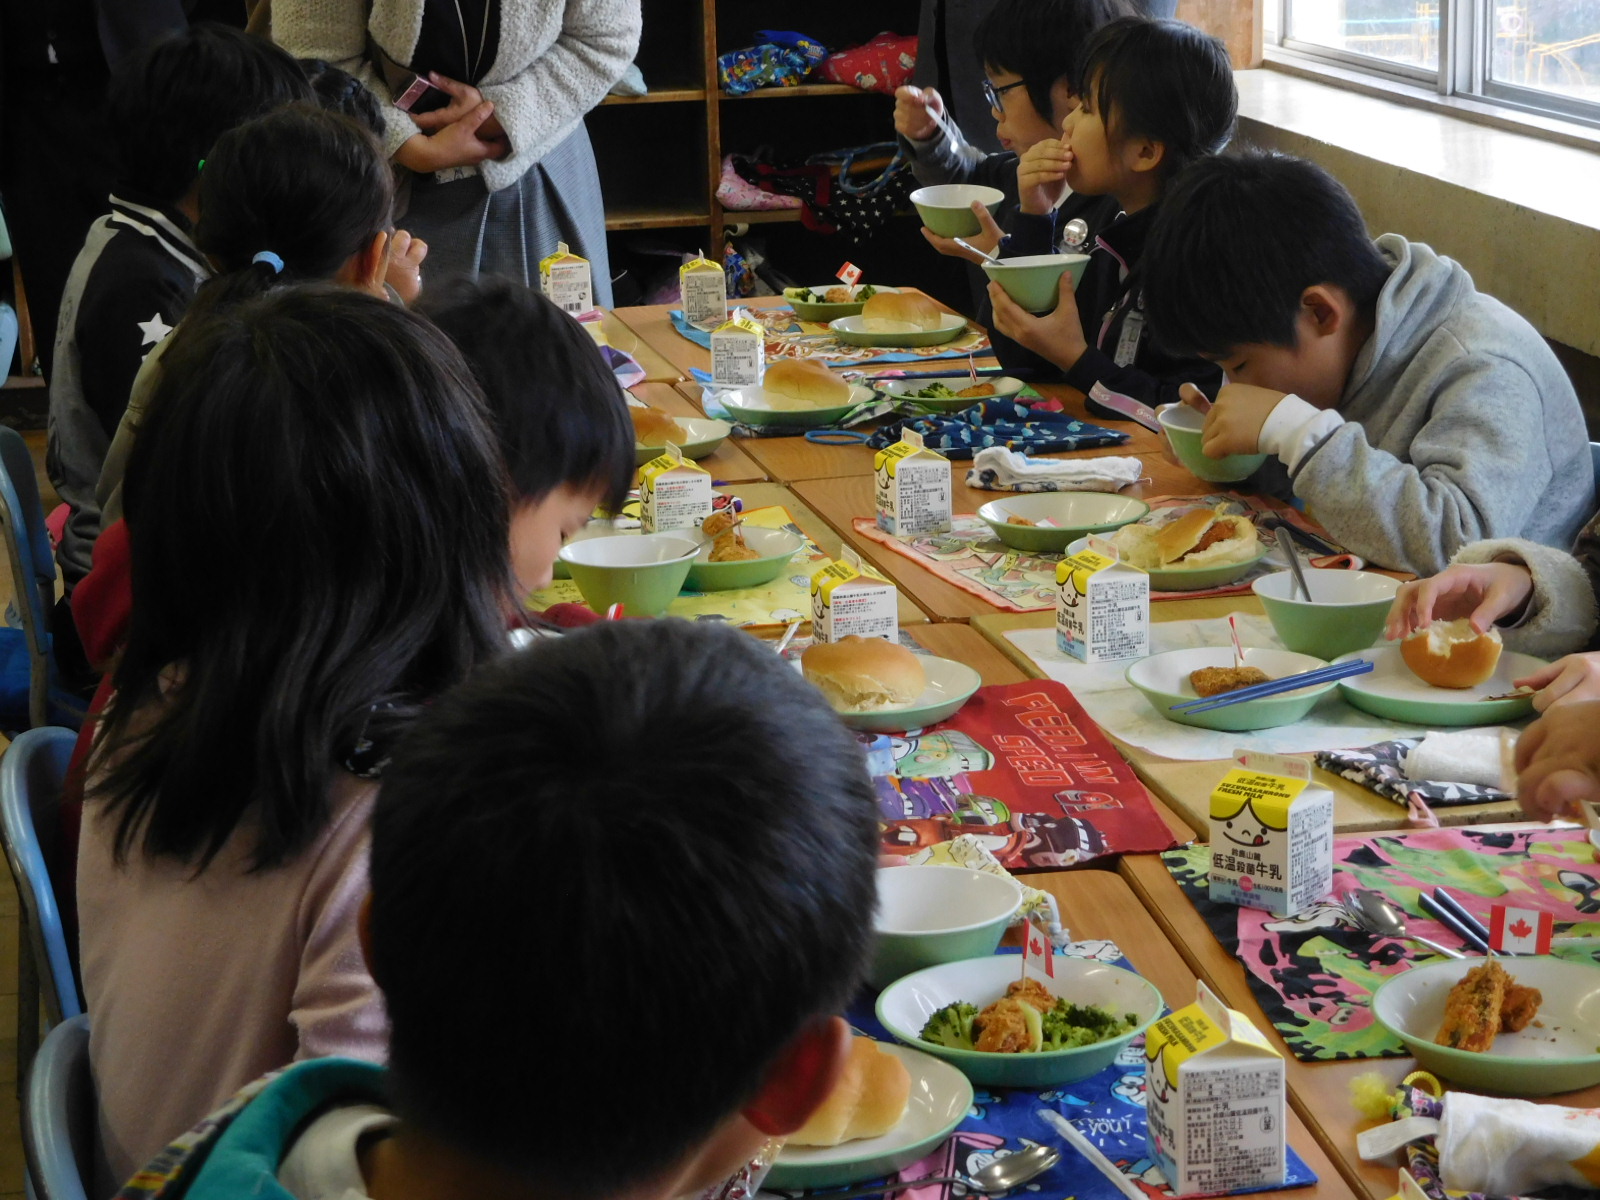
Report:
<svg viewBox="0 0 1600 1200"><path fill-rule="evenodd" d="M88 1200L98 1125L90 1019L75 1016L50 1030L22 1090L22 1154L37 1200Z"/></svg>

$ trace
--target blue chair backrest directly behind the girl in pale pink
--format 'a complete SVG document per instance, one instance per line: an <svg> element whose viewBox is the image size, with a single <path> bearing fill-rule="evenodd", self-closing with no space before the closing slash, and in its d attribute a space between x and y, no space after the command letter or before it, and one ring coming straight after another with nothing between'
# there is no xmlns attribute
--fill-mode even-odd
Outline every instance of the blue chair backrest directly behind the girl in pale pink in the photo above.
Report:
<svg viewBox="0 0 1600 1200"><path fill-rule="evenodd" d="M51 864L61 862L61 781L75 742L72 730L46 725L18 736L0 757L0 834L34 942L19 952L38 963L45 1022L51 1026L83 1011L51 880ZM70 886L70 880L61 883Z"/></svg>

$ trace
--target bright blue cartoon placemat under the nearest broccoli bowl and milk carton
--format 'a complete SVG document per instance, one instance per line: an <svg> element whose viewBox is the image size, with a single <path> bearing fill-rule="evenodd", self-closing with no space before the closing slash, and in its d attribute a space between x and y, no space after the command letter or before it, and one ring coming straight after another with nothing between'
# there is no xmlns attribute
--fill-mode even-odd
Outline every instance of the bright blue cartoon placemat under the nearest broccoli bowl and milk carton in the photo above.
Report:
<svg viewBox="0 0 1600 1200"><path fill-rule="evenodd" d="M1000 954L1016 954L1016 950L1006 947ZM1067 950L1058 954L1098 958L1133 970L1133 963L1122 955L1114 942L1074 942ZM861 1032L870 1034L880 1042L894 1042L894 1037L878 1024L872 1013L875 1000L875 995L862 994L845 1016ZM1123 1200L1122 1192L1109 1179L1083 1162L1077 1150L1066 1146L1061 1136L1040 1120L1037 1115L1040 1109L1054 1109L1072 1120L1078 1131L1094 1142L1152 1200L1171 1200L1173 1194L1166 1187L1166 1181L1157 1171L1155 1163L1146 1157L1144 1037L1130 1042L1118 1054L1117 1062L1099 1075L1078 1083L1046 1091L976 1086L973 1109L950 1134L950 1139L922 1162L912 1163L893 1176L891 1182L939 1174L971 1174L1006 1154L1014 1154L1034 1142L1048 1142L1061 1149L1061 1162L1027 1184L1018 1195L1037 1192L1045 1197L1074 1197L1074 1200ZM1280 1187L1310 1187L1317 1182L1315 1173L1294 1154L1293 1146L1288 1147L1286 1163L1288 1178L1283 1184L1250 1190L1275 1192ZM864 1184L853 1184L853 1187L858 1186ZM912 1195L917 1200L944 1200L952 1194L950 1187L950 1184L938 1186L938 1190L922 1187L901 1195ZM846 1189L827 1189L806 1195L826 1200L829 1190Z"/></svg>

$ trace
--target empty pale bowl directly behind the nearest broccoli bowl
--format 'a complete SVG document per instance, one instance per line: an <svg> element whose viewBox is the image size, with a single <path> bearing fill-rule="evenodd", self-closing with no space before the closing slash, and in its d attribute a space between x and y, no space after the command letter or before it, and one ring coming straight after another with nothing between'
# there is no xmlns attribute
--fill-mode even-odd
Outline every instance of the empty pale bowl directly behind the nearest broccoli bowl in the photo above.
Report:
<svg viewBox="0 0 1600 1200"><path fill-rule="evenodd" d="M1022 904L1010 875L944 866L878 869L872 986L912 971L995 952Z"/></svg>

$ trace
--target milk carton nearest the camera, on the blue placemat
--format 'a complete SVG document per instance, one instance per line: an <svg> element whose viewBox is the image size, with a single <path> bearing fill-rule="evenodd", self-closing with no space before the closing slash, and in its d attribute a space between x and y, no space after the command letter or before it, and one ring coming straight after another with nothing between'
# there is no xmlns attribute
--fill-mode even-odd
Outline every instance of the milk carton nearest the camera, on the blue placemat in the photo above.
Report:
<svg viewBox="0 0 1600 1200"><path fill-rule="evenodd" d="M1205 984L1195 992L1144 1035L1149 1155L1174 1195L1282 1184L1283 1056Z"/></svg>

